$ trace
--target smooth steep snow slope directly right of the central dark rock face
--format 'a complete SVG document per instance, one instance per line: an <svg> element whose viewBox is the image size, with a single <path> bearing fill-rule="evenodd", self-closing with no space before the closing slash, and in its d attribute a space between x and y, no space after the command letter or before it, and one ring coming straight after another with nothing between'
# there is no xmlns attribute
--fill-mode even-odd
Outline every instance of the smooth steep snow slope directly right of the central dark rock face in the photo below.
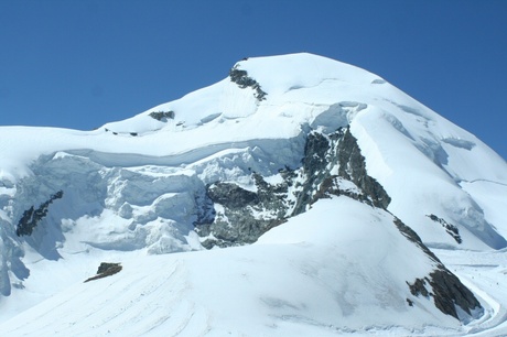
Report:
<svg viewBox="0 0 507 337"><path fill-rule="evenodd" d="M505 161L436 113L411 106L416 108L385 102L350 123L368 173L392 197L389 209L430 246L455 246L442 239L439 225L428 217L434 214L460 228L461 247L505 247L505 221L497 218L500 208L486 215L483 207L487 205L479 204L482 196L474 191L488 182L496 186L492 198L506 205Z"/></svg>

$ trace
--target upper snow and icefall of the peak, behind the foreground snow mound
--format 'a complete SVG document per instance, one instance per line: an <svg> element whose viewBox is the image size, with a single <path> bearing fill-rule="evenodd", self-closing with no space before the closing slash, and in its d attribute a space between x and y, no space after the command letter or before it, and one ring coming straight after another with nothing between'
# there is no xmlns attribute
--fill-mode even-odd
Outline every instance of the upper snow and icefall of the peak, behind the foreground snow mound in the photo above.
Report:
<svg viewBox="0 0 507 337"><path fill-rule="evenodd" d="M339 128L357 140L388 210L425 243L507 246L507 164L487 145L366 70L311 54L256 57L215 85L94 131L0 128L0 293L33 290L30 280L44 268L26 256L61 263L97 251L201 250L219 238L199 238L194 227L225 215L211 186L259 193L256 176L274 186L302 167L310 134L328 138ZM289 205L303 183L288 186ZM17 235L22 219L37 219L28 221L36 222L32 235Z"/></svg>

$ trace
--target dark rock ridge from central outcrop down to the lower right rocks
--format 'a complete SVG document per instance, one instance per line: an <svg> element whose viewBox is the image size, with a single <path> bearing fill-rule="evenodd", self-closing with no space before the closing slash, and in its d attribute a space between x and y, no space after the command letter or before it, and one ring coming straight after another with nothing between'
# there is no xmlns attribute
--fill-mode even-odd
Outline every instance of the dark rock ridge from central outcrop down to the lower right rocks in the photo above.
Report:
<svg viewBox="0 0 507 337"><path fill-rule="evenodd" d="M385 209L390 197L382 186L367 174L365 159L348 128L331 134L312 131L306 138L304 157L299 168L280 170L281 182L267 183L252 173L257 191L234 183L216 182L206 187L206 195L219 209L213 222L201 224L197 233L203 246L228 247L255 242L262 233L291 216L304 213L320 198L346 196L371 207ZM217 207L218 206L218 207ZM399 231L435 262L428 275L407 281L414 296L433 297L435 306L456 319L470 320L483 308L474 294L449 271L425 247L419 236L401 220L395 219ZM429 289L429 290L428 290ZM412 305L412 301L407 298ZM456 311L456 306L461 309ZM459 312L466 315L459 315Z"/></svg>

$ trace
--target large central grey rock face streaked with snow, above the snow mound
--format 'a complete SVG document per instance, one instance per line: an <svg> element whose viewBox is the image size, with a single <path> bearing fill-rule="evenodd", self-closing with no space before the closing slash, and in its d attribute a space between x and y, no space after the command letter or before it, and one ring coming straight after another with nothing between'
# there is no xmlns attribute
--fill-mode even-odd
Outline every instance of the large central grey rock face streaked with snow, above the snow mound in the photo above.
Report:
<svg viewBox="0 0 507 337"><path fill-rule="evenodd" d="M216 182L206 194L216 216L201 221L196 230L203 246L227 247L255 242L270 228L301 214L319 198L346 195L386 208L390 198L366 172L365 159L347 128L332 134L309 133L301 167L279 171L280 182L270 184L251 174L256 191L235 183Z"/></svg>

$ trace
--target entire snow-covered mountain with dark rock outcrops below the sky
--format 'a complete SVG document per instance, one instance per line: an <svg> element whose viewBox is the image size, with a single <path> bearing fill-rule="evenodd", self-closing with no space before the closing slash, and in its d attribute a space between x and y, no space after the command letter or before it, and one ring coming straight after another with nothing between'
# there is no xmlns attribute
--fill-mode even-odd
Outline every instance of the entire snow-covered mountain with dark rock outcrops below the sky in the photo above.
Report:
<svg viewBox="0 0 507 337"><path fill-rule="evenodd" d="M0 128L0 333L501 334L506 206L506 162L379 76L244 59L94 131Z"/></svg>

